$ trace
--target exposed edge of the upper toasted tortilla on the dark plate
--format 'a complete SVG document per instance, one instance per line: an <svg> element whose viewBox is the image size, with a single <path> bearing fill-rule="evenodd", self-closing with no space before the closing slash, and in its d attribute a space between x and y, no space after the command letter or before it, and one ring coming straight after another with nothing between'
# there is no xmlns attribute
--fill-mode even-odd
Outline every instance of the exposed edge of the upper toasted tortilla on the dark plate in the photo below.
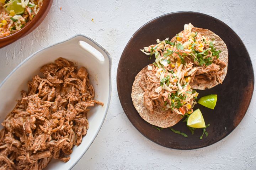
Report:
<svg viewBox="0 0 256 170"><path fill-rule="evenodd" d="M182 31L183 32L183 31ZM223 74L221 75L220 79L223 80L226 77L226 73L228 72L228 49L226 47L225 42L216 34L214 34L212 31L208 30L208 29L203 29L203 28L192 28L192 32L198 32L201 33L204 36L208 36L210 38L210 40L214 40L215 44L214 47L216 48L216 50L221 50L221 53L219 54L219 60L222 60L226 63L226 67L223 70ZM174 41L176 39L176 36L174 38L172 38L171 41ZM194 80L193 82L190 83L190 86L192 89L198 89L198 90L204 90L204 89L210 89L216 85L220 84L220 82L218 81L208 81L207 83L198 83L196 80Z"/></svg>

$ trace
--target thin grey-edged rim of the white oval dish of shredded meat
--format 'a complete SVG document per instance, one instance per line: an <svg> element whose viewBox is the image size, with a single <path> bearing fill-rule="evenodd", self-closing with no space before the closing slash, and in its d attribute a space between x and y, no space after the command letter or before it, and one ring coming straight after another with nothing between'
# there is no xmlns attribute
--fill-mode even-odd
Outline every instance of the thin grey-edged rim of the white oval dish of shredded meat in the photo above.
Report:
<svg viewBox="0 0 256 170"><path fill-rule="evenodd" d="M55 43L55 44L53 44L53 45L50 45L50 46L48 46L48 47L46 47L46 48L43 48L43 49L38 50L37 52L33 53L32 55L30 55L29 57L27 57L25 60L23 60L20 64L18 64L18 66L15 67L15 68L11 71L11 73L10 73L9 75L7 75L7 77L2 81L2 83L0 83L0 89L1 89L2 85L4 85L4 83L7 81L7 79L9 79L9 78L11 77L11 75L12 75L14 72L16 72L16 70L17 70L18 68L20 68L24 63L26 63L26 62L27 62L28 60L30 60L32 57L36 56L39 52L42 52L42 51L44 51L44 50L46 50L46 49L49 49L50 47L53 47L53 46L55 46L55 45L62 44L62 43L64 43L64 42L67 42L67 41L72 40L72 39L74 39L74 38L76 38L76 37L79 37L79 36L83 36L83 37L89 39L90 41L92 41L96 46L98 46L101 50L103 50L103 52L107 55L108 61L109 61L109 77L108 77L108 78L109 78L109 92L108 92L108 101L107 101L106 111L105 111L105 113L104 113L103 119L101 120L101 123L100 123L99 128L97 129L95 135L94 135L93 138L92 138L92 141L89 143L89 145L87 146L87 148L85 149L85 151L82 152L82 154L80 155L80 157L78 157L78 159L76 159L76 160L74 161L74 163L69 167L69 170L72 169L72 168L78 163L78 161L83 157L83 155L85 154L85 152L90 148L90 146L92 145L92 143L93 143L94 140L96 139L98 133L100 132L100 130L101 130L101 128L102 128L102 125L103 125L103 123L104 123L104 121L105 121L105 119L106 119L106 115L107 115L107 112L108 112L108 108L109 108L109 106L110 106L111 90L112 90L112 83L111 83L112 58L111 58L110 53L109 53L104 47L102 47L100 44L98 44L94 39L90 38L89 36L84 35L84 34L76 34L76 35L73 35L73 36L71 36L70 38L68 38L68 39L66 39L66 40L57 42L57 43Z"/></svg>

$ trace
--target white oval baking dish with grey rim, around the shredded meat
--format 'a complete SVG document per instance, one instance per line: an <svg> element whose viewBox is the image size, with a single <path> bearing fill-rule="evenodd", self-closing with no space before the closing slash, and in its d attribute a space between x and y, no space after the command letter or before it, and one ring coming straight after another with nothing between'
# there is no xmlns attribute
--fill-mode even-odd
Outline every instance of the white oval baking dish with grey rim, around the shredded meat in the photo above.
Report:
<svg viewBox="0 0 256 170"><path fill-rule="evenodd" d="M84 42L86 46L82 45ZM84 43L84 44L86 44ZM88 46L90 47L88 48ZM92 48L93 47L93 48ZM96 50L103 57L95 53ZM88 113L90 127L83 137L82 143L73 148L70 160L66 163L52 160L46 169L71 169L90 147L105 120L111 97L111 56L97 42L79 34L72 38L40 50L20 63L0 84L0 122L15 107L16 100L21 98L20 91L27 90L27 82L36 74L42 75L39 69L47 63L54 62L59 57L66 58L84 66L89 72L90 83L95 88L95 100L102 101L104 106L92 108ZM0 125L0 129L2 126ZM85 164L86 168L86 164Z"/></svg>

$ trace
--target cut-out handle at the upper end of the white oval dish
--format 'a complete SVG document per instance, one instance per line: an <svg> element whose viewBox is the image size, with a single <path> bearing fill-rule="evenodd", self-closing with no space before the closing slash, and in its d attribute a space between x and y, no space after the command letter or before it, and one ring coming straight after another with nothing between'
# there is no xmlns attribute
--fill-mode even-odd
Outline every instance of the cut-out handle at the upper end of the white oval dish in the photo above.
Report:
<svg viewBox="0 0 256 170"><path fill-rule="evenodd" d="M96 49L98 52L100 52L103 55L104 61L101 61L98 57L96 57L98 58L98 60L102 62L102 64L105 64L106 62L108 62L111 65L110 53L108 53L108 51L104 49L100 44L98 44L95 40L91 39L90 37L84 34L78 34L72 40L75 40L75 43L79 43L79 41L86 42L87 44L92 46L94 49Z"/></svg>

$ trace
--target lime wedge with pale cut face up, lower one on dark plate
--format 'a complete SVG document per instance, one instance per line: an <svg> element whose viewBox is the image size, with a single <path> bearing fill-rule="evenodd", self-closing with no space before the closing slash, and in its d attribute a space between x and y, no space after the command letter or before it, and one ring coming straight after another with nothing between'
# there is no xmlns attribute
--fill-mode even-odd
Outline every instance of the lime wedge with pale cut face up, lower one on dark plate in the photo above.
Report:
<svg viewBox="0 0 256 170"><path fill-rule="evenodd" d="M187 126L191 128L205 128L203 115L199 109L196 109L187 120Z"/></svg>

